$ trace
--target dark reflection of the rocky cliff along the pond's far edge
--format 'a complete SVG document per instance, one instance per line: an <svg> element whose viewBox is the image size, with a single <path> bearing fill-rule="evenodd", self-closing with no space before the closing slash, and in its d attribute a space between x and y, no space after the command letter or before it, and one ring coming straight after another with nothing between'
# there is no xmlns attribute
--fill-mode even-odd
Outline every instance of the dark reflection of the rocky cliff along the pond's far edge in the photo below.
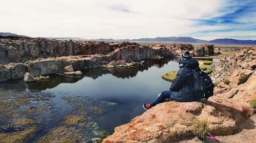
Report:
<svg viewBox="0 0 256 143"><path fill-rule="evenodd" d="M158 68L163 67L165 64L168 64L169 61L178 61L179 58L164 58L164 59L148 59L145 60L144 65L136 65L134 67L129 68L114 68L114 69L87 69L82 70L81 77L65 77L62 75L50 75L50 79L46 81L39 82L24 82L23 79L15 79L6 82L0 83L0 87L5 89L32 89L32 90L47 90L57 87L60 83L75 83L81 80L84 77L91 77L93 79L97 79L98 77L104 74L112 74L117 78L131 78L135 77L138 72L143 72L144 70L148 70L152 66L156 66Z"/></svg>

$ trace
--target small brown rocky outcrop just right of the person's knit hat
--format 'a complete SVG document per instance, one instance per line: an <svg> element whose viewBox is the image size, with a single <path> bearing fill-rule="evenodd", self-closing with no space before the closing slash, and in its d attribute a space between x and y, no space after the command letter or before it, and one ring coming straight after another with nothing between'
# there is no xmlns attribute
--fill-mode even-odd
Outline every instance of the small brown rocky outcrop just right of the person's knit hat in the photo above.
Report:
<svg viewBox="0 0 256 143"><path fill-rule="evenodd" d="M213 44L205 44L200 45L199 48L195 48L193 51L193 56L208 56L214 55L214 45Z"/></svg>

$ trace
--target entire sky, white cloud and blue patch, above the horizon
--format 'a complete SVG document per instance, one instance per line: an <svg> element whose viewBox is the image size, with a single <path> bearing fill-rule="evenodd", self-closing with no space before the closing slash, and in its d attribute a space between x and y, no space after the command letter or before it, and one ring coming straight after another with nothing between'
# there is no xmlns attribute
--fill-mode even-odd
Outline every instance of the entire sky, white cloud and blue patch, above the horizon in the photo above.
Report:
<svg viewBox="0 0 256 143"><path fill-rule="evenodd" d="M256 40L256 0L0 0L0 32L30 37Z"/></svg>

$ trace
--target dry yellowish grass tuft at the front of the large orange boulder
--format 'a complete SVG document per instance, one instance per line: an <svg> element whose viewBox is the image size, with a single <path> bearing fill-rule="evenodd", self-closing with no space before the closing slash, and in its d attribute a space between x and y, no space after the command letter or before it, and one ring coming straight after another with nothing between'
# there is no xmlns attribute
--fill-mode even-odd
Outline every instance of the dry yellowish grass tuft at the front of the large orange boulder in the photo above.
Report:
<svg viewBox="0 0 256 143"><path fill-rule="evenodd" d="M204 138L205 134L209 131L209 122L207 119L199 120L195 118L192 125L194 134L199 138Z"/></svg>

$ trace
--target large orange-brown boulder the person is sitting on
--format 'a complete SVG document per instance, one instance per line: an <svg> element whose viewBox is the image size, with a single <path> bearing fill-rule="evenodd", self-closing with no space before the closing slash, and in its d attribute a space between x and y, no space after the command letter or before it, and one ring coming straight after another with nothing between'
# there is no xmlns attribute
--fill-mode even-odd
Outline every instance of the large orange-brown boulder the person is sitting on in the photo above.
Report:
<svg viewBox="0 0 256 143"><path fill-rule="evenodd" d="M218 101L218 102L217 102ZM221 102L221 103L220 103ZM193 136L193 121L208 119L212 134L227 135L252 115L253 109L219 97L200 102L164 102L115 128L108 142L174 142Z"/></svg>

